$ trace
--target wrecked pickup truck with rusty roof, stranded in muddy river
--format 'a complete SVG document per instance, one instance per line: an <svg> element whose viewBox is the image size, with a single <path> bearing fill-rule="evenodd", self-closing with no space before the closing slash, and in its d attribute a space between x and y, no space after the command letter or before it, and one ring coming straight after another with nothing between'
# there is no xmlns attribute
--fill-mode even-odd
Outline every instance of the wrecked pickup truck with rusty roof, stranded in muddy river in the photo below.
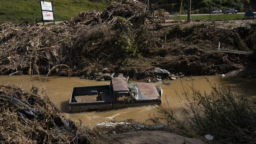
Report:
<svg viewBox="0 0 256 144"><path fill-rule="evenodd" d="M114 77L110 85L73 87L69 112L161 104L161 97L161 87L153 83L127 83L124 77Z"/></svg>

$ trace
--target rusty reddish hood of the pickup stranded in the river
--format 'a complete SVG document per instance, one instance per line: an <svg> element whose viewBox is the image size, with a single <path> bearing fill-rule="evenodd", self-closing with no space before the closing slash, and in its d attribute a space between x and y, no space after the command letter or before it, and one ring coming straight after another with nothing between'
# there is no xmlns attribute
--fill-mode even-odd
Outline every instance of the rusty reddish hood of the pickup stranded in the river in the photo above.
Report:
<svg viewBox="0 0 256 144"><path fill-rule="evenodd" d="M139 88L137 100L156 100L160 97L153 83L136 83Z"/></svg>

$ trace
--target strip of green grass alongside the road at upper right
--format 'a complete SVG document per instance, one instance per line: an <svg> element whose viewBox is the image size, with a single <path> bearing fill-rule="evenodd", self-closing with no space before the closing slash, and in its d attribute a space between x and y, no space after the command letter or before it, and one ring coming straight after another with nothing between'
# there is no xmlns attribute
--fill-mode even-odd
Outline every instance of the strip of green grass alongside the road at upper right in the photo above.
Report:
<svg viewBox="0 0 256 144"><path fill-rule="evenodd" d="M233 20L237 18L244 18L244 14L222 14L220 20ZM209 15L191 15L191 20L209 20ZM218 15L211 15L211 20L217 20ZM171 20L179 20L179 16L171 16ZM181 16L181 20L187 20L187 16Z"/></svg>

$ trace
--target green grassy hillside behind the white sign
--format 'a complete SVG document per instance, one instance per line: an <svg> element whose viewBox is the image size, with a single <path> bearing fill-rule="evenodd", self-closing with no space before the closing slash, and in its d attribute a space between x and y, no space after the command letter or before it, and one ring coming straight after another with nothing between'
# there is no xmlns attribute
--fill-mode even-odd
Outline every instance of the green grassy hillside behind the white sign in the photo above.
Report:
<svg viewBox="0 0 256 144"><path fill-rule="evenodd" d="M89 0L46 0L53 2L55 21L64 21L77 15L81 11L104 10L106 3ZM41 22L41 8L39 0L0 0L0 22Z"/></svg>

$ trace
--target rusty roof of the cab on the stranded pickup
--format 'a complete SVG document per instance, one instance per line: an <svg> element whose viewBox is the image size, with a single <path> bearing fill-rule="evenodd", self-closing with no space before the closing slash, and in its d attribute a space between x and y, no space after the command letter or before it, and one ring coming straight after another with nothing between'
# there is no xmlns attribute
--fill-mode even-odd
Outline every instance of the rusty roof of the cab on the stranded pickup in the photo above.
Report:
<svg viewBox="0 0 256 144"><path fill-rule="evenodd" d="M114 91L123 91L123 90L129 90L125 81L125 78L123 77L113 77L112 78L112 85Z"/></svg>

